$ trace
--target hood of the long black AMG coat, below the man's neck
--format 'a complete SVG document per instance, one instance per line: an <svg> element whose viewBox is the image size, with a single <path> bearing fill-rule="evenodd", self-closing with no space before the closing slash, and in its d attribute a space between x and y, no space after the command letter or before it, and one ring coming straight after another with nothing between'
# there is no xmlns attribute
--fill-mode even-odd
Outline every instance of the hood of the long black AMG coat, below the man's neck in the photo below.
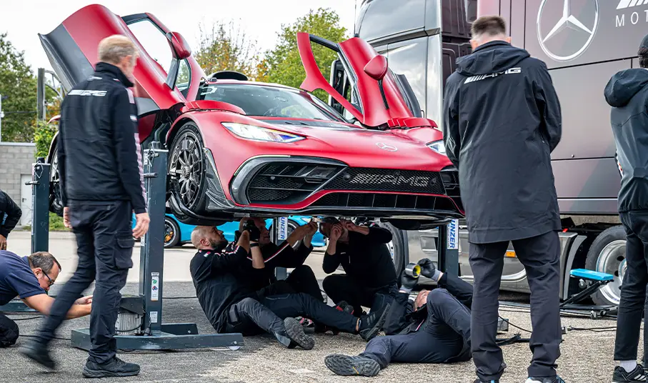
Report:
<svg viewBox="0 0 648 383"><path fill-rule="evenodd" d="M505 71L531 56L524 49L506 41L491 41L475 49L469 56L457 60L457 71L464 76Z"/></svg>

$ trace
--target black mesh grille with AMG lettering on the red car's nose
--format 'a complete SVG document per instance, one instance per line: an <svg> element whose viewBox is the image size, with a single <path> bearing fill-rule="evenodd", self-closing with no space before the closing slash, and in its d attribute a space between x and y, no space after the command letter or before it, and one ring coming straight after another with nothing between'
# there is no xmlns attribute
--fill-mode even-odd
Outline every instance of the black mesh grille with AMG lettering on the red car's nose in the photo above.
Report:
<svg viewBox="0 0 648 383"><path fill-rule="evenodd" d="M345 169L325 189L445 194L438 172L397 169Z"/></svg>

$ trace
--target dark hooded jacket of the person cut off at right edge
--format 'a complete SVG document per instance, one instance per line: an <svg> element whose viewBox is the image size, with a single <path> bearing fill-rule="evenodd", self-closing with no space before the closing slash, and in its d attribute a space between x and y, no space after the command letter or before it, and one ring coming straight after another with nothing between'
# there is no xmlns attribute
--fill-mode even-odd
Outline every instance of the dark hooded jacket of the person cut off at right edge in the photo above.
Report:
<svg viewBox="0 0 648 383"><path fill-rule="evenodd" d="M621 171L619 212L648 209L648 69L626 69L605 86Z"/></svg>

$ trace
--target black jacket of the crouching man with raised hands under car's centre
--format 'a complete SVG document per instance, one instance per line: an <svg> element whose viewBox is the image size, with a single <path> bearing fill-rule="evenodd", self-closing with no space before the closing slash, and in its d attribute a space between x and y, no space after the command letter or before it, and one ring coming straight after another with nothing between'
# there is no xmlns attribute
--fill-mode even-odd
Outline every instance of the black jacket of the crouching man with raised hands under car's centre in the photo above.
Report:
<svg viewBox="0 0 648 383"><path fill-rule="evenodd" d="M335 254L324 254L322 269L335 272L342 264L344 272L362 287L384 287L397 283L396 270L387 244L392 232L370 227L369 234L349 232L349 244L337 242Z"/></svg>

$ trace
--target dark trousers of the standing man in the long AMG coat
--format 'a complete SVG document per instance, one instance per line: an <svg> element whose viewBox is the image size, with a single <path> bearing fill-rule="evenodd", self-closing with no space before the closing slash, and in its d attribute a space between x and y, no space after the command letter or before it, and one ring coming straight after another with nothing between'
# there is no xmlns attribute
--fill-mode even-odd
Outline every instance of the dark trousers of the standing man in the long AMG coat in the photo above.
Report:
<svg viewBox="0 0 648 383"><path fill-rule="evenodd" d="M470 244L474 274L472 301L472 357L482 381L497 380L504 372L502 349L496 344L499 285L509 242ZM533 334L529 347L533 359L529 377L555 377L562 331L559 312L560 242L557 232L513 241L531 289Z"/></svg>

